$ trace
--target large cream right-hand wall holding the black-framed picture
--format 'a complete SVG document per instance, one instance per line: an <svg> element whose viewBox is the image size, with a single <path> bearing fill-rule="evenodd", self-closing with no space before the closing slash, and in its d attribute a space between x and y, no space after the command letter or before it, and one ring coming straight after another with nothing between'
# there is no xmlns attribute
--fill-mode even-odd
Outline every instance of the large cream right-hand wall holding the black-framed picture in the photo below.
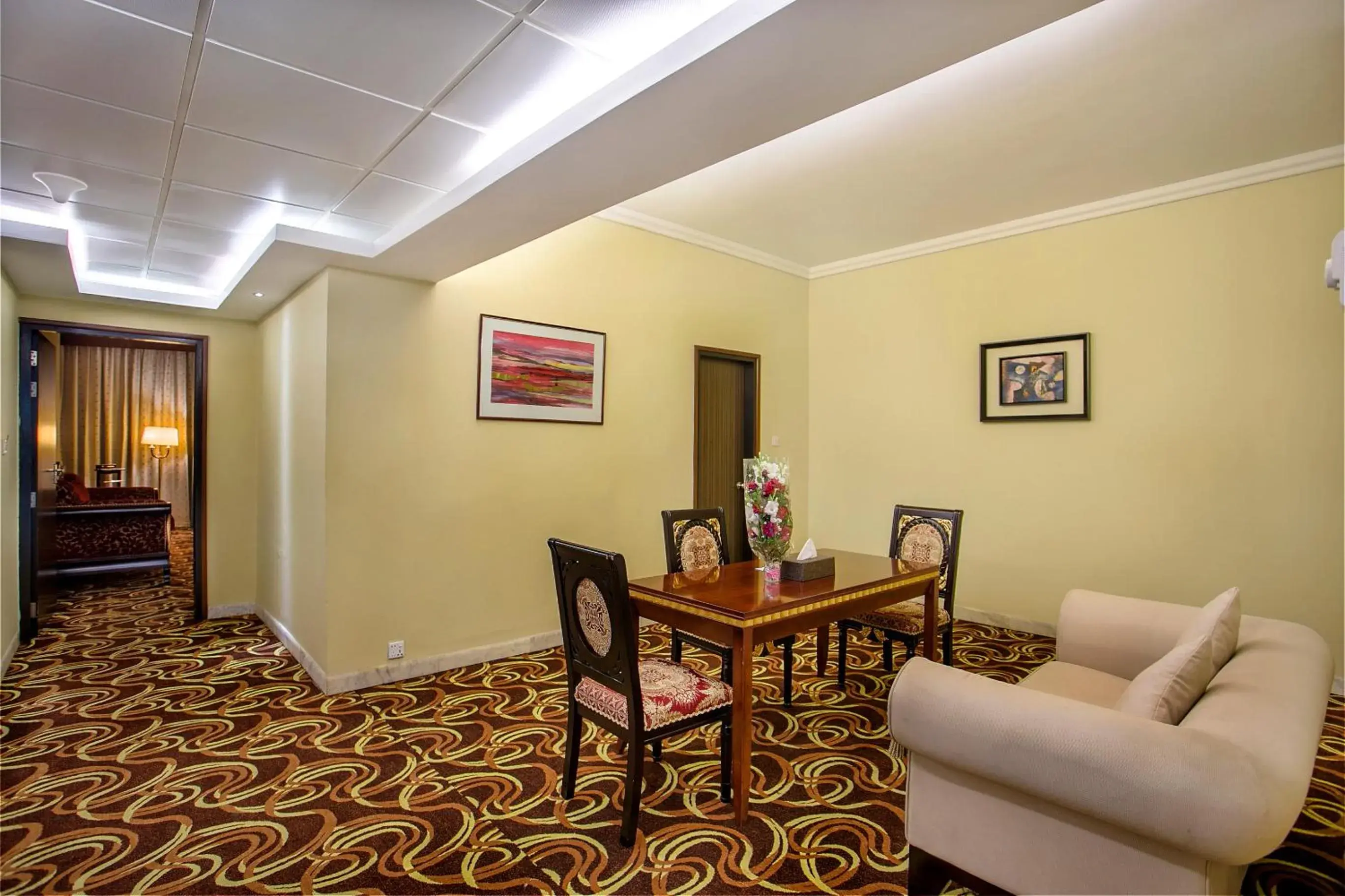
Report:
<svg viewBox="0 0 1345 896"><path fill-rule="evenodd" d="M967 512L958 603L1067 588L1317 629L1342 668L1341 169L811 282L810 528ZM1089 330L1087 423L979 423L978 345Z"/></svg>

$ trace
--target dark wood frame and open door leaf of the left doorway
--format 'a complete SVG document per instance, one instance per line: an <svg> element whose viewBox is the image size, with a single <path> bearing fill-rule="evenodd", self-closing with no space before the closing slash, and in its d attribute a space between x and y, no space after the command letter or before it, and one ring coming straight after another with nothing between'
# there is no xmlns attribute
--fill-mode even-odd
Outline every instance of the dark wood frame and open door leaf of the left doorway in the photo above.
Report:
<svg viewBox="0 0 1345 896"><path fill-rule="evenodd" d="M55 504L55 482L63 472L56 447L59 360L62 341L100 340L122 348L175 348L192 355L192 603L196 619L206 618L206 367L208 337L120 326L93 326L20 318L19 321L19 637L38 634L38 556L46 537L38 524L39 508Z"/></svg>

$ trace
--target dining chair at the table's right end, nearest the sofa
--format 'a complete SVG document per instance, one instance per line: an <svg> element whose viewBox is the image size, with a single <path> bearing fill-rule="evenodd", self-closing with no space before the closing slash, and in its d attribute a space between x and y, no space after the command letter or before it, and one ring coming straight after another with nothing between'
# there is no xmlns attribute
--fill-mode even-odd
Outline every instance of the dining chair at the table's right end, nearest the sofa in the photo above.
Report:
<svg viewBox="0 0 1345 896"><path fill-rule="evenodd" d="M897 505L892 512L892 541L888 556L912 563L939 564L939 621L943 634L943 661L952 665L952 599L958 584L958 548L962 544L962 510L940 510ZM845 684L846 650L850 631L870 629L882 633L882 668L892 672L892 642L907 647L907 658L916 654L924 635L924 600L902 600L838 626L837 681Z"/></svg>

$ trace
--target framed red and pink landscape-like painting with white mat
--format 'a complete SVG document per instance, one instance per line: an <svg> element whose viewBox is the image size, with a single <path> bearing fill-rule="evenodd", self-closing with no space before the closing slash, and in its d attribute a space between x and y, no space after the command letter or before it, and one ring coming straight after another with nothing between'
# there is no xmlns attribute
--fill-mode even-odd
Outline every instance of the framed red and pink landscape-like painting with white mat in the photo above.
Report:
<svg viewBox="0 0 1345 896"><path fill-rule="evenodd" d="M476 418L601 423L607 333L482 314Z"/></svg>

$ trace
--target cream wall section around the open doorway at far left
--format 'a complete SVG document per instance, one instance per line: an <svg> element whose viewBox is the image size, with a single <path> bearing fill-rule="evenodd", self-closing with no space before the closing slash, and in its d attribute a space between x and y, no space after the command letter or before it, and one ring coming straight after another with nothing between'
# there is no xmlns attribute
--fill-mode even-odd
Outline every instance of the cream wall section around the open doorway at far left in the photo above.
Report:
<svg viewBox="0 0 1345 896"><path fill-rule="evenodd" d="M125 304L31 296L19 297L19 316L210 337L206 414L207 595L213 606L254 603L260 371L256 324L175 314Z"/></svg>

